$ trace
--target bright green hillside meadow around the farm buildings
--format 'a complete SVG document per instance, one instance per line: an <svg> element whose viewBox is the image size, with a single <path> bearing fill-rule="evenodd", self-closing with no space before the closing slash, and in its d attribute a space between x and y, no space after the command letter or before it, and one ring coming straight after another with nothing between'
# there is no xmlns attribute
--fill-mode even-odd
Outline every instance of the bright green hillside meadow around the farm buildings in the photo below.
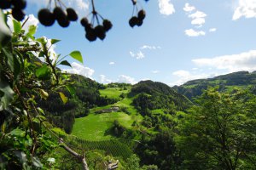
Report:
<svg viewBox="0 0 256 170"><path fill-rule="evenodd" d="M115 98L120 93L128 93L126 90L120 90L120 88L106 88L101 90L101 94L105 94L108 97ZM141 122L143 117L137 114L137 110L131 105L132 99L125 98L119 102L113 104L116 106L126 107L130 115L124 112L112 112L95 114L96 111L102 109L108 109L112 105L106 105L103 107L96 107L90 110L89 116L77 118L73 126L72 134L87 140L106 140L111 139L112 135L109 133L109 129L113 126L113 121L118 120L121 125L127 128L132 128L131 124L134 121Z"/></svg>

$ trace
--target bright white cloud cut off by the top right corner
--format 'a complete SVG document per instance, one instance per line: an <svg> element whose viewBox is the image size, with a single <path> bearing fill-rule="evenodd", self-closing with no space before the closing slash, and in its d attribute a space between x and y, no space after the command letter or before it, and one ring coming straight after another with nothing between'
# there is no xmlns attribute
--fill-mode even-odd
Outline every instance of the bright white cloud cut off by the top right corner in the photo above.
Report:
<svg viewBox="0 0 256 170"><path fill-rule="evenodd" d="M233 20L238 20L241 17L256 18L256 0L238 0Z"/></svg>

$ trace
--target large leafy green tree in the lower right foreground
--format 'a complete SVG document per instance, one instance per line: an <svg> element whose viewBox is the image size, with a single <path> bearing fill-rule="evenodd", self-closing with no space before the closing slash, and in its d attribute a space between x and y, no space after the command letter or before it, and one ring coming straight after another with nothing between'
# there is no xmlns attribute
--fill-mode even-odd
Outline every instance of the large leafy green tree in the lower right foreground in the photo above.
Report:
<svg viewBox="0 0 256 170"><path fill-rule="evenodd" d="M255 169L255 99L248 91L205 91L180 123L183 169Z"/></svg>

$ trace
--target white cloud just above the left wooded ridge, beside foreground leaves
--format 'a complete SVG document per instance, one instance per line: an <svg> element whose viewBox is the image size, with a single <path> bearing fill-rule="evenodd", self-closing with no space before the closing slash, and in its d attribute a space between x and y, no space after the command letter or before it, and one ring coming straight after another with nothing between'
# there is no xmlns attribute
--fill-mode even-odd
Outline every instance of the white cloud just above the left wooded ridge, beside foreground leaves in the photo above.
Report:
<svg viewBox="0 0 256 170"><path fill-rule="evenodd" d="M62 70L64 72L72 73L72 74L78 74L84 77L89 77L92 79L92 75L94 73L94 70L90 69L89 67L85 67L84 65L80 65L79 63L73 62L71 69Z"/></svg>

